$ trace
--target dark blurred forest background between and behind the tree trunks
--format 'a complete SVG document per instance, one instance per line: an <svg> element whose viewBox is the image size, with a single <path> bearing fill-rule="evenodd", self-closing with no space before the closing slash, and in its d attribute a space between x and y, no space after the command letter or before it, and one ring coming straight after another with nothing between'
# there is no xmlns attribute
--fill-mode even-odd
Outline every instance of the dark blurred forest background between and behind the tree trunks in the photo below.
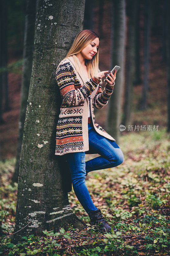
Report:
<svg viewBox="0 0 170 256"><path fill-rule="evenodd" d="M134 3L138 2L135 24L131 25L131 17L134 15ZM166 0L150 1L126 1L126 38L125 38L125 69L122 95L121 124L127 106L126 81L130 79L133 86L133 98L131 99L131 118L126 120L126 125L159 125L168 127L168 100L167 89L167 22ZM0 158L10 158L16 155L19 108L21 96L21 79L24 47L24 29L26 15L26 1L2 1L4 12L1 15L1 149ZM150 4L150 6L148 5ZM83 29L92 29L100 36L99 68L110 69L111 64L111 1L86 1ZM148 24L145 24L145 8L148 10ZM133 26L136 27L133 27ZM149 26L148 39L145 39L145 27ZM129 36L131 29L138 36L137 46L133 45L134 55L131 77L129 70ZM135 32L135 29L137 32ZM146 32L147 33L147 32ZM33 35L33 32L32 32ZM145 40L148 40L148 85L147 106L141 102L143 86L145 83ZM135 47L138 47L137 50ZM117 63L114 63L114 66ZM117 74L118 76L118 74ZM104 83L103 83L104 84ZM117 85L118 86L118 85ZM142 106L143 105L143 106ZM143 109L142 109L143 108ZM95 112L96 121L106 128L107 106ZM159 129L159 128L158 128ZM126 131L122 132L124 134ZM132 131L129 131L129 133Z"/></svg>

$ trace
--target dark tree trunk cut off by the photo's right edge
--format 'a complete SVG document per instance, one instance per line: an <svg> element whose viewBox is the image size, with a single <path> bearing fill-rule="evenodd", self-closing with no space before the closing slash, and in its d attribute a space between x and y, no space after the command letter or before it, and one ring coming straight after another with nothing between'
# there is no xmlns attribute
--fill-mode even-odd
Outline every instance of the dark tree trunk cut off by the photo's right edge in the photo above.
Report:
<svg viewBox="0 0 170 256"><path fill-rule="evenodd" d="M167 101L168 101L168 126L167 132L170 132L170 1L167 1L166 19L167 19Z"/></svg>

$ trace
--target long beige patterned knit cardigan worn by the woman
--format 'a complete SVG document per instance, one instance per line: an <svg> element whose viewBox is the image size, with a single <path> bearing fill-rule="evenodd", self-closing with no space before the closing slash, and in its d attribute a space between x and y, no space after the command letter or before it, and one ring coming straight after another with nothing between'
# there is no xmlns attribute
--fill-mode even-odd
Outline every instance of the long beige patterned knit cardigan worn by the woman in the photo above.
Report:
<svg viewBox="0 0 170 256"><path fill-rule="evenodd" d="M79 61L78 58L77 61ZM56 128L55 155L89 150L89 96L92 126L100 135L115 141L99 124L95 123L93 113L93 106L99 109L108 103L113 90L105 87L102 91L101 79L96 76L88 81L83 69L80 71L76 69L73 56L60 62L55 79L60 88L62 100Z"/></svg>

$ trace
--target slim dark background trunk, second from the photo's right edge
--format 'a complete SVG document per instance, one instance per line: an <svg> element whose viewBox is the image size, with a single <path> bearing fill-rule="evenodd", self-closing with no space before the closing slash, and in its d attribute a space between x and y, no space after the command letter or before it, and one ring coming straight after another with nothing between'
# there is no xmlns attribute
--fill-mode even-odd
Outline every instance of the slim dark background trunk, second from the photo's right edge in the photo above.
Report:
<svg viewBox="0 0 170 256"><path fill-rule="evenodd" d="M149 90L149 50L150 50L150 23L151 23L151 0L144 0L144 82L142 98L139 109L147 108L147 94Z"/></svg>

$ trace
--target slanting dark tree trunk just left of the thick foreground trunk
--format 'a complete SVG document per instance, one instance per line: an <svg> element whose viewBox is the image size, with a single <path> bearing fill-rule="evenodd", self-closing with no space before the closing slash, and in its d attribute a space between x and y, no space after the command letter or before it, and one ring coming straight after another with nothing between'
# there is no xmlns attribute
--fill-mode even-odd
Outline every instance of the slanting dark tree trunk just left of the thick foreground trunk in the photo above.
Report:
<svg viewBox="0 0 170 256"><path fill-rule="evenodd" d="M18 145L17 145L16 165L15 165L15 171L12 177L12 182L18 182L18 172L19 172L19 162L20 162L20 156L21 156L21 145L22 145L22 138L23 138L25 112L26 112L28 92L29 92L31 72L32 72L35 18L36 18L36 1L27 0L26 16L25 16L22 84L21 84L21 97L20 97L20 116L19 116L19 125L18 125Z"/></svg>

